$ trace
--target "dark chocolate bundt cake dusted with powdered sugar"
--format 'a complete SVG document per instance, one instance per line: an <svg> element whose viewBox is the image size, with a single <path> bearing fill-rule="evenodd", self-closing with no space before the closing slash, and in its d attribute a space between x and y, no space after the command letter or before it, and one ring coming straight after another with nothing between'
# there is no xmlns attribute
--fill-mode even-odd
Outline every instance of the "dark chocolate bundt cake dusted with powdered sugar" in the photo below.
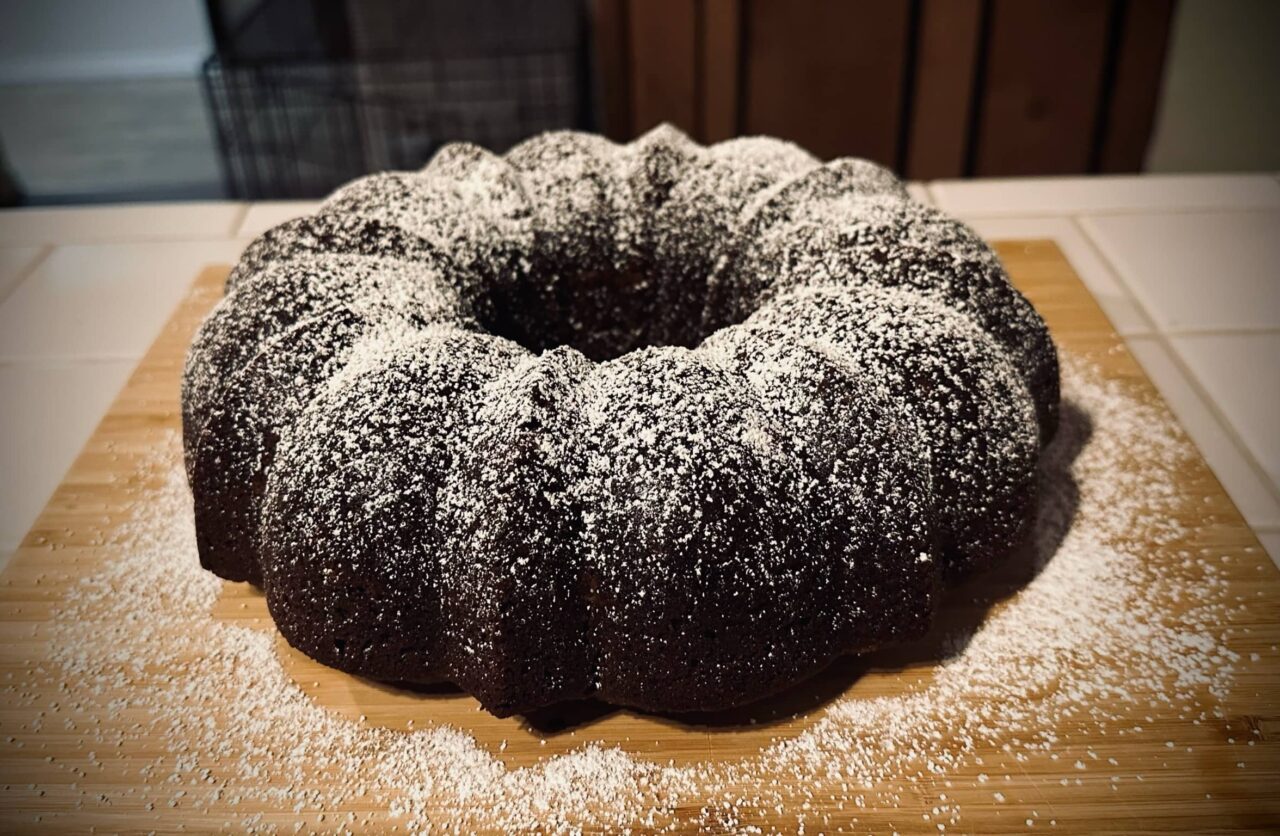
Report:
<svg viewBox="0 0 1280 836"><path fill-rule="evenodd" d="M1044 324L863 160L548 133L255 241L201 326L202 563L303 653L495 714L717 709L920 635L1009 552Z"/></svg>

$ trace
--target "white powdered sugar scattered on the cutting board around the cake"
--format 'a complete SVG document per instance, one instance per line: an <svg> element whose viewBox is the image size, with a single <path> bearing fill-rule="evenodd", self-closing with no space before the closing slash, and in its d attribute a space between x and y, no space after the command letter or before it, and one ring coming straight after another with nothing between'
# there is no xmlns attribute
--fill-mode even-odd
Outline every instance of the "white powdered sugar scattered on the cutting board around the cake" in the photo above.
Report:
<svg viewBox="0 0 1280 836"><path fill-rule="evenodd" d="M1174 512L1189 499L1172 475L1193 451L1166 414L1070 357L1064 406L1018 583L961 589L951 609L978 615L945 618L951 632L922 643L932 655L890 695L854 689L799 735L739 760L663 764L585 743L512 769L466 730L371 727L316 704L283 667L273 631L211 615L221 581L197 562L177 438L155 462L163 488L108 545L113 559L58 604L45 673L60 694L49 705L32 690L31 708L83 737L91 764L155 752L137 775L78 790L86 807L140 804L142 827L207 816L278 830L306 816L300 828L361 830L390 814L410 831L765 821L836 831L924 794L936 800L914 826L945 830L964 826L957 798L975 787L1004 803L1002 764L1070 758L1121 786L1137 778L1076 754L1060 730L1142 734L1133 717L1143 711L1212 716L1239 662L1222 626L1236 604L1215 556L1180 551L1187 531ZM590 741L591 727L579 737Z"/></svg>

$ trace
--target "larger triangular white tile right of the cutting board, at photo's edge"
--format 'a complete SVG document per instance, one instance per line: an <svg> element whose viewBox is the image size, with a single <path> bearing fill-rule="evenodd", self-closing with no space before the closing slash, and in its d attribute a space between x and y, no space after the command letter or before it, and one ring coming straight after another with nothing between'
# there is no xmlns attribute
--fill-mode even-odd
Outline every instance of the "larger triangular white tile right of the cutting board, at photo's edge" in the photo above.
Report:
<svg viewBox="0 0 1280 836"><path fill-rule="evenodd" d="M1170 342L1280 490L1280 332L1201 334Z"/></svg>

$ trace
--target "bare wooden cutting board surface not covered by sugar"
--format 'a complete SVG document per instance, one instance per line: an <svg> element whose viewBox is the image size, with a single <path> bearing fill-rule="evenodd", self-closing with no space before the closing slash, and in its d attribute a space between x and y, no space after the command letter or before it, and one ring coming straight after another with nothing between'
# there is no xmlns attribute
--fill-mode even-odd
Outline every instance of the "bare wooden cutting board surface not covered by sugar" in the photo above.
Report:
<svg viewBox="0 0 1280 836"><path fill-rule="evenodd" d="M1140 397L1158 403L1140 367L1053 243L1005 242L997 248L1015 283L1044 315L1064 352L1089 358L1107 378L1129 382ZM183 824L207 830L241 822L239 817L251 812L242 805L228 808L225 817L216 810L197 817L180 807L146 809L141 796L119 798L122 787L145 782L136 767L154 758L163 748L161 741L146 745L131 740L115 752L91 754L92 744L52 722L49 708L59 700L76 702L76 694L58 693L56 682L49 679L51 618L68 589L101 567L100 544L110 542L128 518L129 498L137 495L138 480L147 479L140 475L145 470L142 462L154 456L157 439L179 426L178 387L186 348L200 320L220 297L225 275L225 268L210 268L198 277L0 579L0 822L6 830L42 826L83 832L96 826L109 831L166 831ZM1033 808L1038 826L1048 827L1052 818L1056 830L1073 832L1280 830L1280 657L1274 652L1280 641L1280 574L1203 461L1197 457L1187 466L1180 481L1188 497L1180 516L1194 531L1194 544L1226 558L1225 594L1248 599L1233 616L1239 630L1231 648L1243 657L1262 650L1239 671L1222 703L1222 717L1192 723L1166 718L1155 707L1151 725L1157 730L1151 734L1073 740L1091 750L1115 753L1129 764L1152 764L1148 780L1128 786L1123 795L1102 790L1082 792L1079 786L1064 786L1079 776L1069 758L1061 766L1037 763L1033 769L1004 776L1001 792L1007 798L1006 804L992 803L989 791L969 792L964 818L952 831L1019 830L1032 821L1027 817ZM1172 571L1172 554L1153 549L1151 559L1169 561ZM220 620L274 635L261 594L246 585L224 584L214 612ZM767 709L744 712L737 721L727 716L714 725L703 725L591 708L543 718L540 727L532 727L520 718L497 719L476 711L475 702L461 694L411 694L357 680L301 657L278 636L275 640L287 672L329 711L398 730L449 723L472 735L508 769L539 763L586 741L616 744L630 753L677 764L735 760L772 740L800 734L846 689L856 686L860 696L874 696L901 687L904 676L928 675L927 671L863 672L837 664L804 687L773 700ZM759 711L768 713L762 717ZM101 722L131 721L106 717ZM1166 745L1169 739L1179 741L1178 750ZM1248 749L1248 768L1240 768L1242 744L1247 739L1253 745ZM965 794L966 781L973 785L970 789L977 789L977 772L974 768L952 776L956 794ZM93 801L93 791L99 789L115 794L110 804ZM228 798L233 790L228 787ZM352 804L358 807L355 800ZM845 822L850 830L892 827L937 832L927 819L932 804L936 801L924 795L909 795L879 818L874 812L865 813L856 826L845 812L829 812L835 813L832 822ZM297 814L278 808L262 812L268 814L264 824L300 822L307 830L342 826L334 810L329 810L328 819L310 808ZM792 813L785 810L776 821L756 823L787 830L794 826ZM361 819L365 827L396 823L385 810L366 809L364 814L370 817Z"/></svg>

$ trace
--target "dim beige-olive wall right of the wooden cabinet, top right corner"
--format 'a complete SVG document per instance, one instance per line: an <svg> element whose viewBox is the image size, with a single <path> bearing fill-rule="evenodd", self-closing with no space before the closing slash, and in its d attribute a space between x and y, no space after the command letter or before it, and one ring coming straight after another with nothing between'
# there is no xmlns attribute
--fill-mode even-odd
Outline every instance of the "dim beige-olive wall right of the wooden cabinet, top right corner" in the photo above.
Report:
<svg viewBox="0 0 1280 836"><path fill-rule="evenodd" d="M1181 0L1147 170L1280 170L1280 3Z"/></svg>

